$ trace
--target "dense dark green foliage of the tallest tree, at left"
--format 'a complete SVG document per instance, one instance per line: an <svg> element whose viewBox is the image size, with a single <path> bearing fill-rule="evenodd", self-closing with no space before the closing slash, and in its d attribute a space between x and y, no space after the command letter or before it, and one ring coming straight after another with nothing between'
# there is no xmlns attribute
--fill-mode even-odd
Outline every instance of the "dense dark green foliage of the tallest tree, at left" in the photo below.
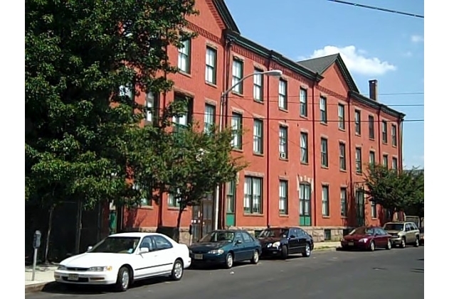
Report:
<svg viewBox="0 0 449 299"><path fill-rule="evenodd" d="M26 0L26 199L140 198L127 161L194 0Z"/></svg>

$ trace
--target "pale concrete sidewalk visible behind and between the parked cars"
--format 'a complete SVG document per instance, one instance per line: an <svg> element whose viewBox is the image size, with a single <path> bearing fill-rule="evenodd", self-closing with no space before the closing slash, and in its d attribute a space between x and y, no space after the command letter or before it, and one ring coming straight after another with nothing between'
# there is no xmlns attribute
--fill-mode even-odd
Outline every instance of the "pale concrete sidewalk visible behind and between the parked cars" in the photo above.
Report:
<svg viewBox="0 0 449 299"><path fill-rule="evenodd" d="M314 250L331 250L340 246L340 242L318 242L315 243ZM33 276L33 267L25 266L25 293L38 292L43 289L48 283L55 281L53 272L58 268L56 265L38 265L36 266L36 275L34 281L31 281Z"/></svg>

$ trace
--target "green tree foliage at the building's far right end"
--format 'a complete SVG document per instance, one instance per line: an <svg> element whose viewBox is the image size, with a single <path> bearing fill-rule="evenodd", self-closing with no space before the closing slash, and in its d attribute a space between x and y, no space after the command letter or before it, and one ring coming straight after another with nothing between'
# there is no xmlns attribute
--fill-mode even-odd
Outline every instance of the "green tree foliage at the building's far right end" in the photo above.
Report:
<svg viewBox="0 0 449 299"><path fill-rule="evenodd" d="M370 200L394 212L424 212L424 175L421 170L388 169L383 165L368 168L365 193Z"/></svg>

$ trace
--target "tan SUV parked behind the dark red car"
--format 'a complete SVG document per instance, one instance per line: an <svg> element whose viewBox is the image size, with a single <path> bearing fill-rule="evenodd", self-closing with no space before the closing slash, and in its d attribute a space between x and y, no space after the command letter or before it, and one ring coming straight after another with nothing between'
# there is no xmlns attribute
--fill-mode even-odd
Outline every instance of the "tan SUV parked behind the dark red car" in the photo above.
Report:
<svg viewBox="0 0 449 299"><path fill-rule="evenodd" d="M419 246L419 229L414 222L387 222L384 229L391 234L393 246L401 248L406 248L407 244Z"/></svg>

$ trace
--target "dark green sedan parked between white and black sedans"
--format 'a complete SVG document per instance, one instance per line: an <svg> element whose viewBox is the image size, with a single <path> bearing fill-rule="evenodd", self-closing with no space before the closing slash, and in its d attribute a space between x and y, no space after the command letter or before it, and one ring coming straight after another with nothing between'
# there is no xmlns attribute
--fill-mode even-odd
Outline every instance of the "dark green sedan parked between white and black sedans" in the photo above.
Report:
<svg viewBox="0 0 449 299"><path fill-rule="evenodd" d="M260 241L242 229L216 230L189 246L193 265L223 264L232 268L236 261L259 262Z"/></svg>

